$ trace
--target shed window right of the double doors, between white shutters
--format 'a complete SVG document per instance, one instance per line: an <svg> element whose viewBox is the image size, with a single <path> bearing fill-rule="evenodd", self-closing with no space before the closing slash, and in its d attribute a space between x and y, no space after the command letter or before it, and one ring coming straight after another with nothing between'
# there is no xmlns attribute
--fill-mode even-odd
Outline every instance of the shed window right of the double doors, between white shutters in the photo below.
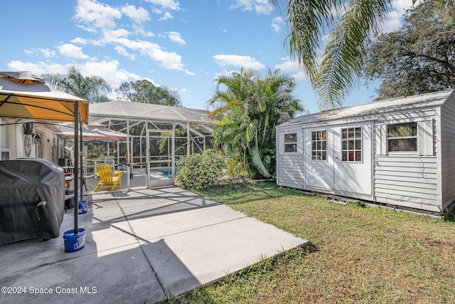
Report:
<svg viewBox="0 0 455 304"><path fill-rule="evenodd" d="M417 122L387 125L389 152L417 152Z"/></svg>

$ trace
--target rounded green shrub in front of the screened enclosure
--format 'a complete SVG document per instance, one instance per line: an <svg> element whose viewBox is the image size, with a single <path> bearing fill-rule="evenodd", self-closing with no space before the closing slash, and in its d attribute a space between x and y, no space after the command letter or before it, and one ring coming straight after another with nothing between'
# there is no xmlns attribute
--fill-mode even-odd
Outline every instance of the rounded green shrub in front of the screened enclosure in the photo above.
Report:
<svg viewBox="0 0 455 304"><path fill-rule="evenodd" d="M225 174L225 162L220 154L205 150L191 154L177 163L176 184L183 189L201 189L218 184Z"/></svg>

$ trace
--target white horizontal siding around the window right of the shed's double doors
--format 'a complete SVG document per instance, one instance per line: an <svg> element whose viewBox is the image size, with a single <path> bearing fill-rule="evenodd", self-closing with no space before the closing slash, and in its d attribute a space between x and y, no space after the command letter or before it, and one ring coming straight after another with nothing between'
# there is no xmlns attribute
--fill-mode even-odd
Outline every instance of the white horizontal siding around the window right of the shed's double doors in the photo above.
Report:
<svg viewBox="0 0 455 304"><path fill-rule="evenodd" d="M400 120L401 113L387 115L375 126L375 201L440 211L438 166L437 157L434 157L436 113L435 109L409 111L407 120ZM413 120L417 125L416 151L388 151L387 126L411 123Z"/></svg>

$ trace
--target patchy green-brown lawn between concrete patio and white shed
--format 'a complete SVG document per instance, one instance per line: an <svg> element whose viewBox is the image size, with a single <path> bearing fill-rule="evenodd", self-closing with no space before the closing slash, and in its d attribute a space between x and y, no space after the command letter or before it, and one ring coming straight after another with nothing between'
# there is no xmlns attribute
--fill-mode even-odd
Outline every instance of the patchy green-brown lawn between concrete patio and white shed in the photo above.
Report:
<svg viewBox="0 0 455 304"><path fill-rule="evenodd" d="M455 223L273 182L199 191L311 241L168 303L455 303ZM247 233L247 231L245 231Z"/></svg>

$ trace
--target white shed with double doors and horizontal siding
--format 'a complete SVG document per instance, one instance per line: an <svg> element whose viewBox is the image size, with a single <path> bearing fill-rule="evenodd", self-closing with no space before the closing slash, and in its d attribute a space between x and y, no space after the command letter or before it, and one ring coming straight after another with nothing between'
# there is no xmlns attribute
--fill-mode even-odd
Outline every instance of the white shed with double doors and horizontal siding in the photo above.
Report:
<svg viewBox="0 0 455 304"><path fill-rule="evenodd" d="M455 200L455 95L304 115L277 126L277 184L444 214Z"/></svg>

